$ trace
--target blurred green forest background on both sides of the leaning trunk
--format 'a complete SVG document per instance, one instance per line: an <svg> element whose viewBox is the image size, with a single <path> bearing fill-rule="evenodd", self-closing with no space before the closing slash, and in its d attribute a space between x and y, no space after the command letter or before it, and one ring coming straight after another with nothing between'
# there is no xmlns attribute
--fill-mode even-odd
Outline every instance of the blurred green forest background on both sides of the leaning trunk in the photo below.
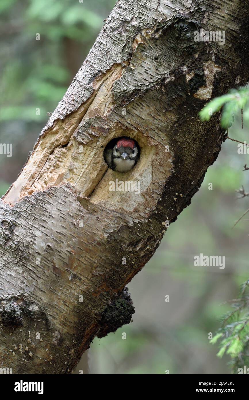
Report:
<svg viewBox="0 0 249 400"><path fill-rule="evenodd" d="M114 0L1 0L0 143L13 144L13 156L0 155L0 194L16 180L28 152L86 58L114 7ZM36 34L40 40L36 40ZM40 108L40 115L36 109ZM229 136L248 140L249 126L235 121ZM106 338L95 338L76 368L84 374L222 374L228 358L208 334L231 309L248 274L248 156L227 140L192 204L167 230L159 249L128 285L135 306L133 323ZM213 184L213 190L208 184ZM225 256L225 269L194 267L193 257ZM165 296L169 295L169 302ZM126 333L126 340L122 333ZM88 358L88 362L87 361Z"/></svg>

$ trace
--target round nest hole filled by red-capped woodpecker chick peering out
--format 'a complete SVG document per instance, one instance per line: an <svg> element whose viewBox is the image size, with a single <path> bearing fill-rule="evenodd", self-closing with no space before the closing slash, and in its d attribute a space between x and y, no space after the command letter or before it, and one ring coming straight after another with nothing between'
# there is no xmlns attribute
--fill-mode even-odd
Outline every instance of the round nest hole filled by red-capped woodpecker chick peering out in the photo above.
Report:
<svg viewBox="0 0 249 400"><path fill-rule="evenodd" d="M123 137L111 140L104 150L106 164L112 170L127 172L133 168L139 158L139 148L135 140Z"/></svg>

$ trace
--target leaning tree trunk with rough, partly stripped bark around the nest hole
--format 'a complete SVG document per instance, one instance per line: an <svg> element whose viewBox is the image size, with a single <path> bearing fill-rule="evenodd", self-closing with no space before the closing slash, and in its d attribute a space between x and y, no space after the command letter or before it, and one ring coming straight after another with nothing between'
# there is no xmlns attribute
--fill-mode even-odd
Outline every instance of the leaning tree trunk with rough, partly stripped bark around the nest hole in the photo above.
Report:
<svg viewBox="0 0 249 400"><path fill-rule="evenodd" d="M198 112L248 80L248 15L243 0L118 1L1 200L2 368L68 374L95 336L130 320L123 288L224 140L219 115ZM200 28L225 31L225 44L195 42ZM141 156L121 174L103 150L124 135ZM116 178L141 193L110 192Z"/></svg>

